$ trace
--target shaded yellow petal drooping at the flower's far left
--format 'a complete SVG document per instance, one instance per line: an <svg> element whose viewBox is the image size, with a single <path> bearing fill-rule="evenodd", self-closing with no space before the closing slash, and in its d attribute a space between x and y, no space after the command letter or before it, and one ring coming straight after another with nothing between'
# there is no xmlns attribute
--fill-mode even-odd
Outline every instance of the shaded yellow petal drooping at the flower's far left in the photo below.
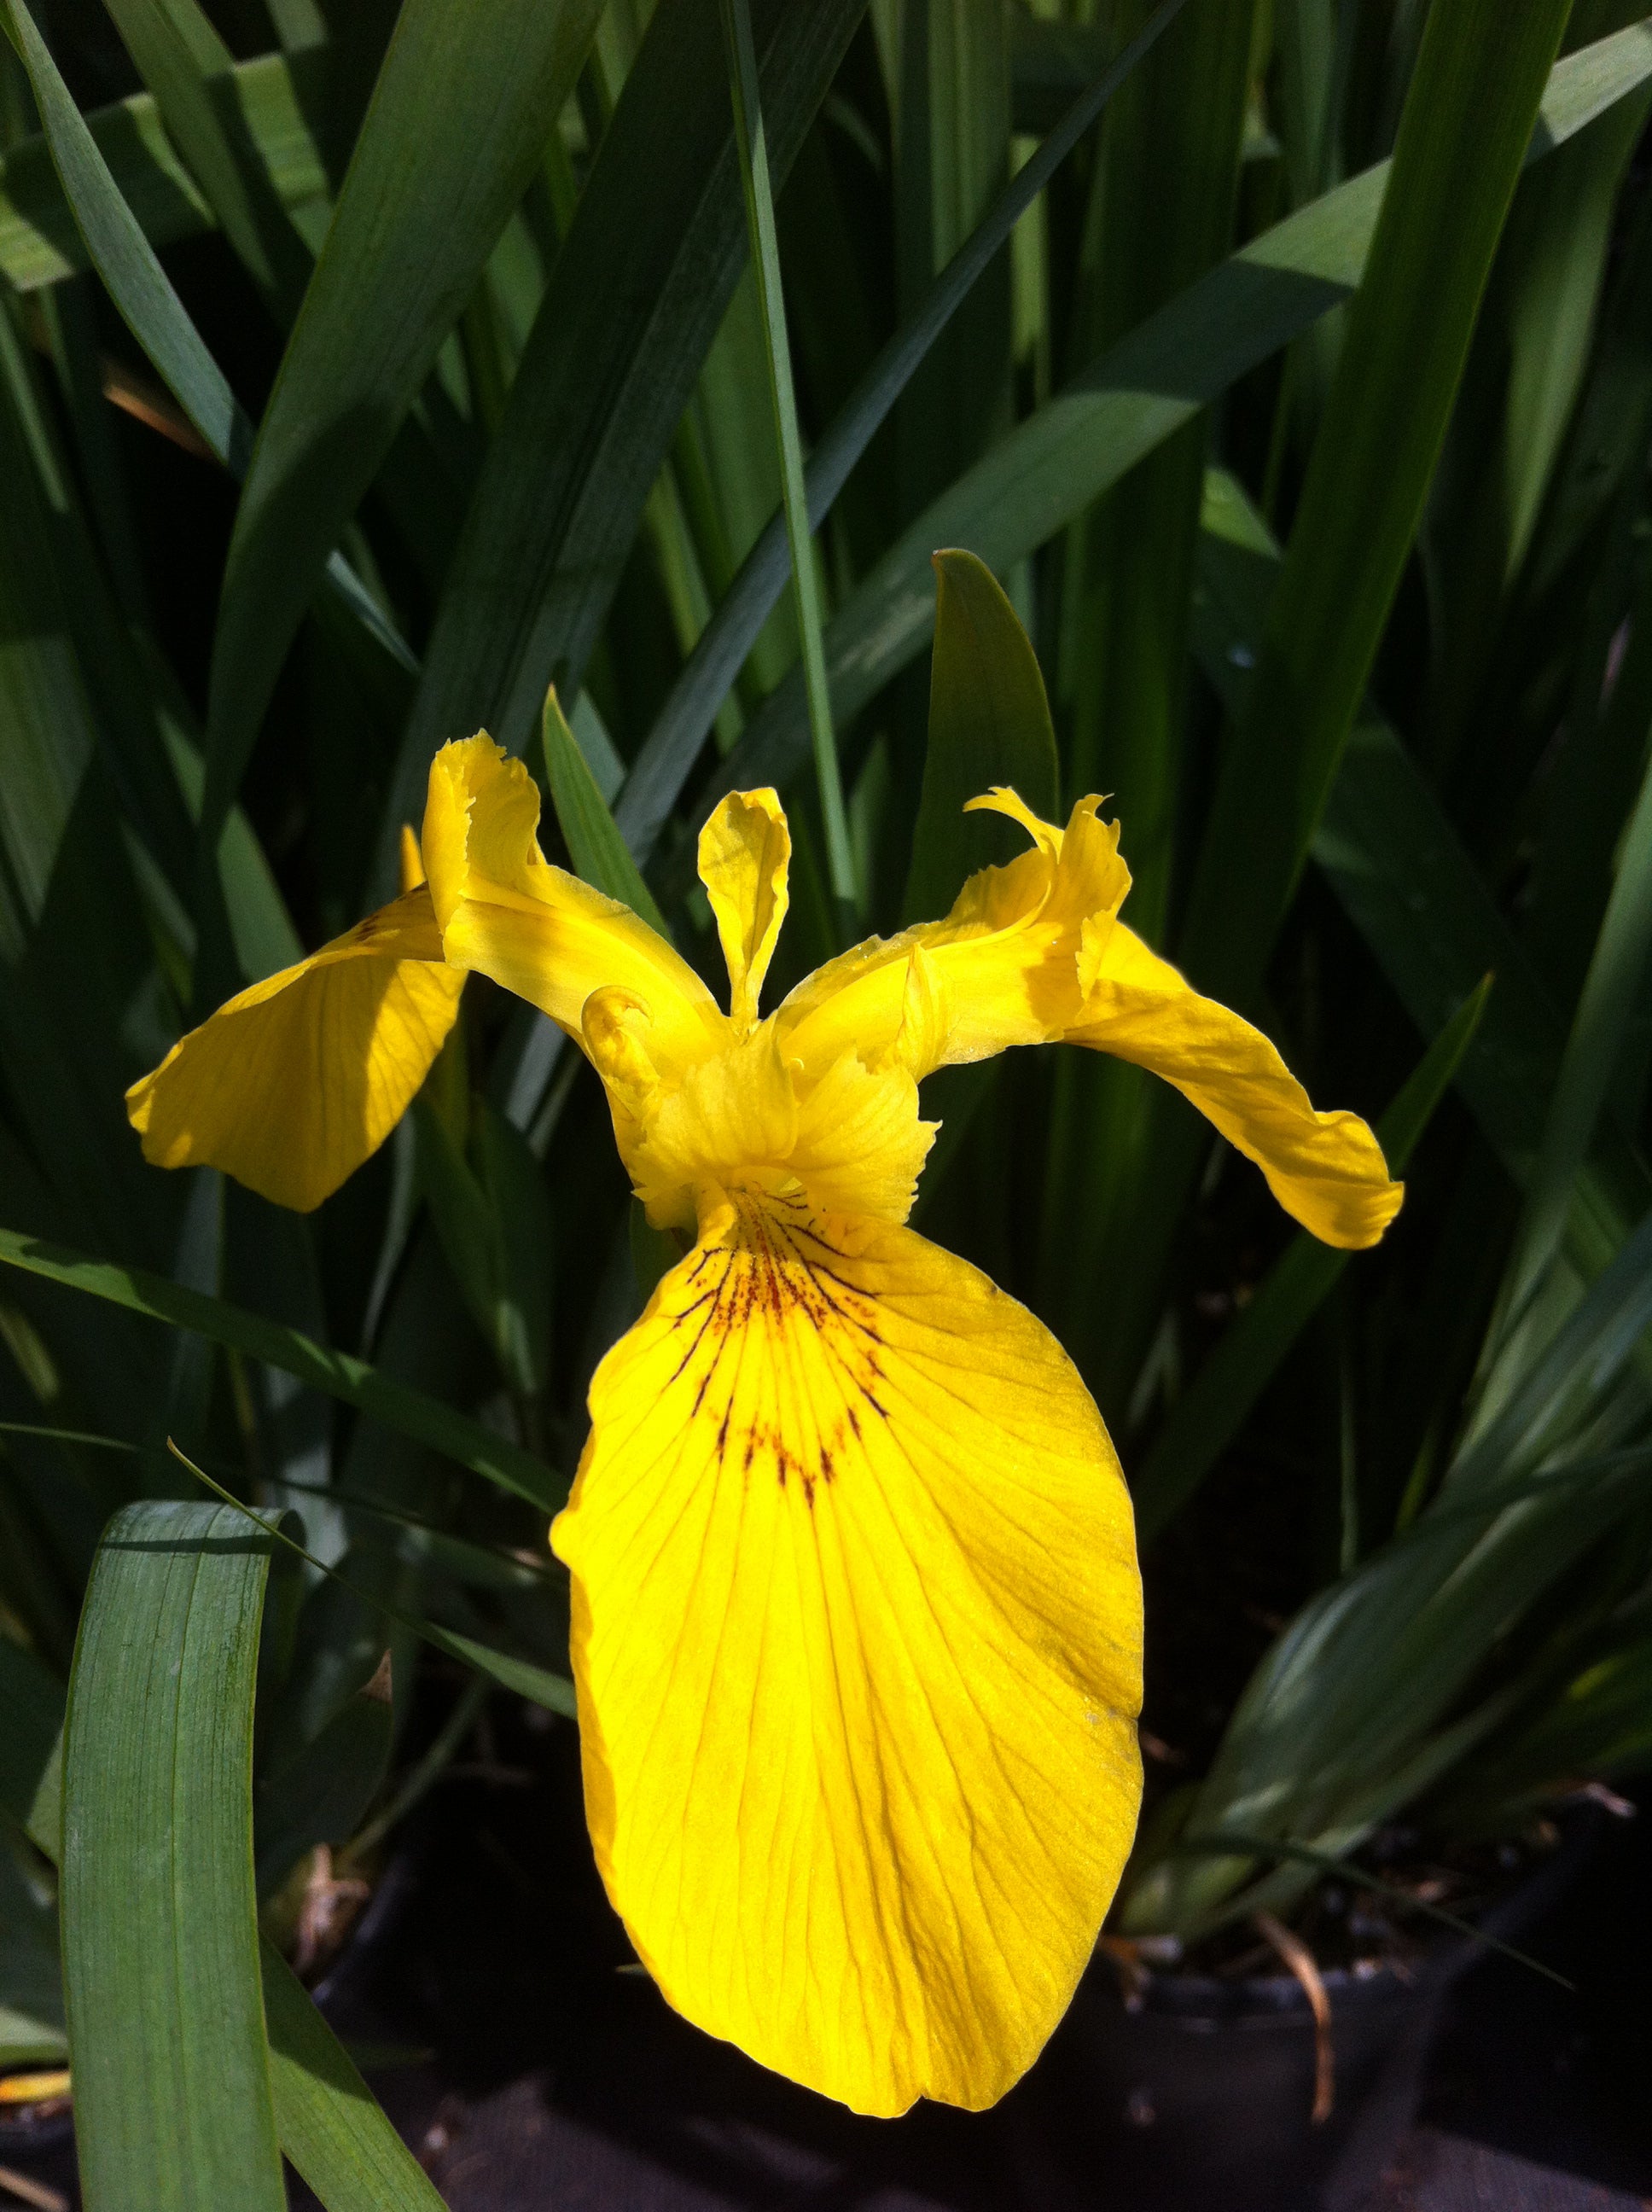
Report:
<svg viewBox="0 0 1652 2212"><path fill-rule="evenodd" d="M126 1093L157 1168L223 1168L310 1212L376 1152L458 1015L431 896L369 914L296 967L254 982Z"/></svg>

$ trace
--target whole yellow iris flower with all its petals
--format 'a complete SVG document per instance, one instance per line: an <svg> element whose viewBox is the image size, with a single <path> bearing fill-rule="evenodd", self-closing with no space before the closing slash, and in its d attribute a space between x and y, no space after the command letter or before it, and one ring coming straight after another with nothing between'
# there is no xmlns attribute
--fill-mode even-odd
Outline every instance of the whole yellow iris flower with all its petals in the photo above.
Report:
<svg viewBox="0 0 1652 2212"><path fill-rule="evenodd" d="M464 971L584 1046L650 1221L694 1232L597 1367L551 1528L597 1865L679 2011L860 2112L980 2108L1024 2073L1141 1798L1119 1460L1048 1329L905 1228L918 1084L1090 1044L1177 1084L1329 1243L1400 1206L1365 1121L1314 1113L1119 920L1095 799L1066 830L1013 792L975 805L1031 847L759 1018L790 836L774 792L725 799L699 843L723 1013L544 860L526 768L464 739L431 763L414 887L128 1095L148 1159L310 1208L407 1108Z"/></svg>

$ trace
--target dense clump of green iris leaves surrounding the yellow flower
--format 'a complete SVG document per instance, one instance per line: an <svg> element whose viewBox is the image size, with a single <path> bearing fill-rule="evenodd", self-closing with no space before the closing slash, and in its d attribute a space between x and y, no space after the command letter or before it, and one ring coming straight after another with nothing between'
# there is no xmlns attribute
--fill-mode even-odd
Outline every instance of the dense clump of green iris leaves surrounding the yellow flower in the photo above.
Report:
<svg viewBox="0 0 1652 2212"><path fill-rule="evenodd" d="M924 1232L1059 1334L1137 1500L1170 1763L1115 1927L1289 1911L1398 1818L1449 1854L1643 1765L1637 9L0 18L0 2066L62 2057L93 1951L184 1993L155 2046L88 2015L95 2201L217 2172L263 2203L243 2177L279 2188L279 2143L330 2205L369 2172L429 2203L281 1958L217 1940L223 1867L257 1820L274 1898L385 1836L433 1772L429 1644L478 1683L438 1754L487 1694L568 1710L544 1515L661 1265L597 1084L498 993L310 1219L146 1170L124 1086L394 889L433 745L478 726L546 783L553 858L652 898L697 962L688 856L732 785L785 792L798 973L944 911L1000 852L920 818L927 752L975 748L984 787L1026 732L960 721L969 684L931 717L935 546L1035 639L1028 801L1110 792L1135 929L1409 1179L1349 1259L1126 1064L1011 1055L927 1097ZM544 750L551 684L573 750ZM1181 1635L1216 1584L1283 1628ZM170 1650L161 1721L133 1644ZM358 1694L387 1648L391 1703ZM157 1728L166 1790L128 1756ZM133 1909L139 1847L175 1882ZM245 2097L197 2093L237 2066Z"/></svg>

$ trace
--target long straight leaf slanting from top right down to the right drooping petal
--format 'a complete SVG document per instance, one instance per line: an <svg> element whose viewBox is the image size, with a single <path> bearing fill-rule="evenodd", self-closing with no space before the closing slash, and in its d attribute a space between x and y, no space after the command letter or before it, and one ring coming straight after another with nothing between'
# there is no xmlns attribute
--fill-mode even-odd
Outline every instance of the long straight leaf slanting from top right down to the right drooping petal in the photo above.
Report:
<svg viewBox="0 0 1652 2212"><path fill-rule="evenodd" d="M1336 776L1422 515L1570 0L1440 0L1227 748L1181 958L1247 1006Z"/></svg>

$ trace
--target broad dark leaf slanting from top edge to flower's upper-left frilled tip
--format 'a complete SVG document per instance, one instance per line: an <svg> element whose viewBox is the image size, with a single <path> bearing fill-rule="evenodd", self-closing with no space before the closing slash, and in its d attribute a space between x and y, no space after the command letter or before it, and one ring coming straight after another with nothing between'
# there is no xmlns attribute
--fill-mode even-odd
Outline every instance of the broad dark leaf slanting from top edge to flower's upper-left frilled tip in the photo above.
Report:
<svg viewBox="0 0 1652 2212"><path fill-rule="evenodd" d="M759 0L754 9L776 181L860 11L862 0ZM522 752L546 686L573 697L743 259L717 18L699 0L661 0L551 272L453 555L385 807L385 883L400 823L416 814L445 737L482 723Z"/></svg>

